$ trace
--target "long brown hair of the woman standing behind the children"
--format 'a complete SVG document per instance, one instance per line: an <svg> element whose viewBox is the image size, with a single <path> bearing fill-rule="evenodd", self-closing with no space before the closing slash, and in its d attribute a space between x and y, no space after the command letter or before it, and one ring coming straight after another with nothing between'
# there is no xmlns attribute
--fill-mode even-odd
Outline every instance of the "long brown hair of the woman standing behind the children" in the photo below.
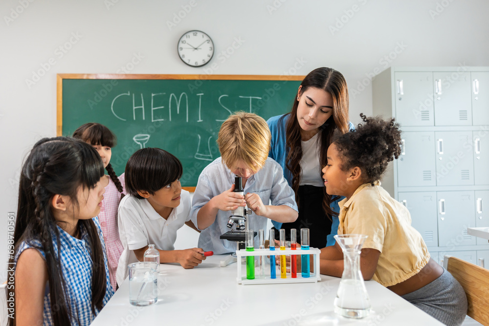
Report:
<svg viewBox="0 0 489 326"><path fill-rule="evenodd" d="M332 116L319 128L320 132L320 154L319 162L320 169L326 166L328 160L326 158L326 152L331 144L334 130L340 130L342 133L348 132L348 87L343 75L333 68L321 67L312 70L301 83L301 94L310 87L323 89L331 94L333 97L333 114ZM299 184L301 182L301 158L302 158L302 144L301 144L301 127L299 121L297 121L297 107L299 101L294 98L294 104L289 114L284 115L281 119L287 118L286 135L287 135L287 169L292 174L292 189L295 192L295 200L299 205ZM320 174L321 171L318 171ZM337 215L330 204L333 201L331 196L326 193L326 187L323 189L324 200L323 209L329 218L333 215Z"/></svg>

